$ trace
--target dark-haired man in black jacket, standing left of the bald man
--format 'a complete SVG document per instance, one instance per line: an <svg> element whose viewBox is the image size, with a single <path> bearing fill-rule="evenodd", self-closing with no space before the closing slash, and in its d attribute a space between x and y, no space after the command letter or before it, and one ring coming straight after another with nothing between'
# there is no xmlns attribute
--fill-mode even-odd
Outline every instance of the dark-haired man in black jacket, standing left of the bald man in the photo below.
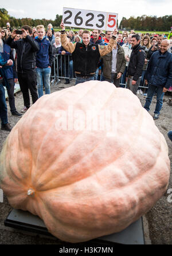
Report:
<svg viewBox="0 0 172 256"><path fill-rule="evenodd" d="M140 36L138 34L132 35L131 46L132 52L127 72L127 88L136 95L142 77L146 54L144 52L144 48L140 46Z"/></svg>

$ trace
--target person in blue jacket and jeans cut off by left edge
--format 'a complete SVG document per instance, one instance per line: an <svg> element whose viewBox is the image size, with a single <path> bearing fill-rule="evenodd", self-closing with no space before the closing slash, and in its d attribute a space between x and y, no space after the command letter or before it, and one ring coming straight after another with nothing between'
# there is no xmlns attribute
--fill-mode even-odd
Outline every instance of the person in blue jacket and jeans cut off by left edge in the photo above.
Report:
<svg viewBox="0 0 172 256"><path fill-rule="evenodd" d="M3 77L2 73L4 70L8 69L11 65L13 65L13 61L9 59L8 61L4 61L2 55L0 53L0 118L1 118L1 130L11 131L11 126L8 122L7 118L7 106L5 101L5 89L3 88L3 84L5 84L6 80Z"/></svg>

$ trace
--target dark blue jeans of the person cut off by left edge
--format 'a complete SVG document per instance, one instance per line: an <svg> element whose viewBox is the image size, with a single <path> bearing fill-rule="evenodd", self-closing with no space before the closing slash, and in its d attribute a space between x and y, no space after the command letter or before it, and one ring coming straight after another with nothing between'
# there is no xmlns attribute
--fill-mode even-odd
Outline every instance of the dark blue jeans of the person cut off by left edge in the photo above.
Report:
<svg viewBox="0 0 172 256"><path fill-rule="evenodd" d="M5 89L2 84L0 84L0 118L2 125L6 125L8 123Z"/></svg>

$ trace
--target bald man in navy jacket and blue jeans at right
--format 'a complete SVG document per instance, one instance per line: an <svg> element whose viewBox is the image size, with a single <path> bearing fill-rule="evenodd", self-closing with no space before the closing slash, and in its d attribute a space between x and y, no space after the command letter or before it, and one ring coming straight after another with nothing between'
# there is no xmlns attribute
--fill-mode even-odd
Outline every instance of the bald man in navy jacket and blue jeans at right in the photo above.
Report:
<svg viewBox="0 0 172 256"><path fill-rule="evenodd" d="M168 52L169 40L163 40L160 50L154 52L147 66L146 80L148 84L147 98L144 108L149 111L155 91L157 104L154 111L154 120L159 118L163 104L164 93L172 84L172 54Z"/></svg>

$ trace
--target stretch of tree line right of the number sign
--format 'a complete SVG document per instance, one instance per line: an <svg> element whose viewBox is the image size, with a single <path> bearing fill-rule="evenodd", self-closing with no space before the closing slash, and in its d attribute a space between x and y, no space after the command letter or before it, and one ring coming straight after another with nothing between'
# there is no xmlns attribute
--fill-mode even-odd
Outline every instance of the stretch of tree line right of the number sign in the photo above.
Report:
<svg viewBox="0 0 172 256"><path fill-rule="evenodd" d="M142 15L141 17L130 17L122 18L120 22L120 29L135 29L144 31L170 31L172 26L172 15L170 16L147 16Z"/></svg>

